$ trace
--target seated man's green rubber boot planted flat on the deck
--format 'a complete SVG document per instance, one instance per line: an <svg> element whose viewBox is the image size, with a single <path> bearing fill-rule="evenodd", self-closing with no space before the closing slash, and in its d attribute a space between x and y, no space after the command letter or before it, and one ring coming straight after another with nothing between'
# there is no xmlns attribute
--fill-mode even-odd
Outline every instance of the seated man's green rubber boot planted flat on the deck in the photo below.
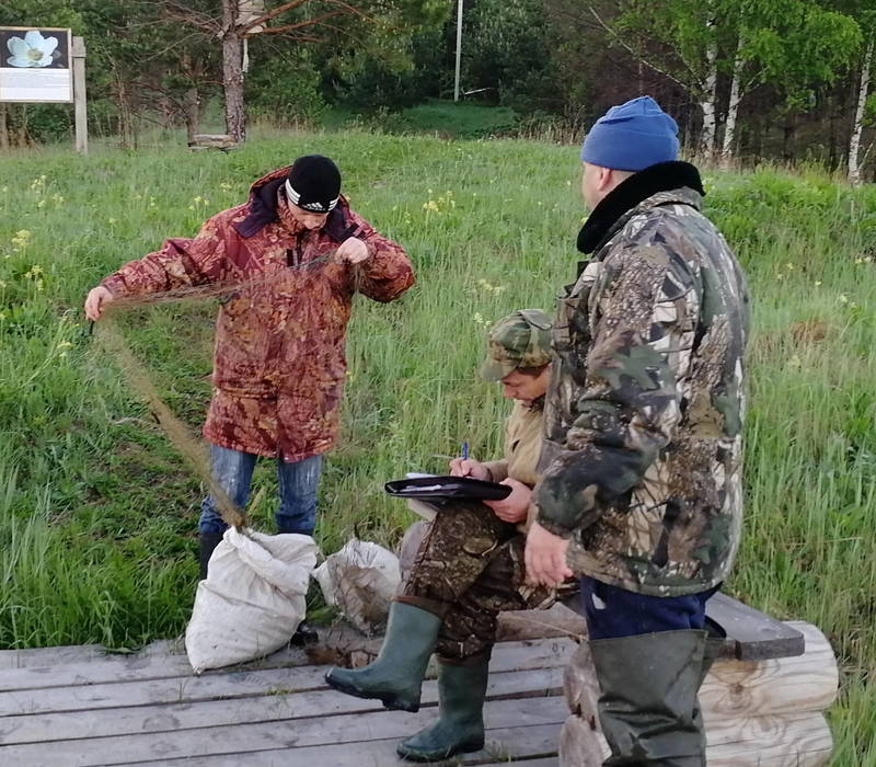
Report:
<svg viewBox="0 0 876 767"><path fill-rule="evenodd" d="M453 754L484 747L484 698L489 655L456 666L442 663L438 671L438 721L402 741L399 756L410 762L441 762Z"/></svg>

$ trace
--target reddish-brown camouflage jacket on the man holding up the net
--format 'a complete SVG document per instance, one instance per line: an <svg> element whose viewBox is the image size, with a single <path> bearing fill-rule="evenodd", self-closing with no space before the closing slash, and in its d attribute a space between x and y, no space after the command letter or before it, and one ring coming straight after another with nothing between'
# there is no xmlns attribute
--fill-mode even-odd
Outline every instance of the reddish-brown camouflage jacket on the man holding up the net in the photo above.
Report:
<svg viewBox="0 0 876 767"><path fill-rule="evenodd" d="M297 461L331 449L344 389L353 296L391 301L414 283L401 245L342 197L318 230L277 215L288 168L256 181L244 205L210 218L194 239L172 239L103 281L114 296L241 284L216 323L214 396L205 437L222 447ZM348 237L369 257L332 257ZM264 278L263 278L264 277Z"/></svg>

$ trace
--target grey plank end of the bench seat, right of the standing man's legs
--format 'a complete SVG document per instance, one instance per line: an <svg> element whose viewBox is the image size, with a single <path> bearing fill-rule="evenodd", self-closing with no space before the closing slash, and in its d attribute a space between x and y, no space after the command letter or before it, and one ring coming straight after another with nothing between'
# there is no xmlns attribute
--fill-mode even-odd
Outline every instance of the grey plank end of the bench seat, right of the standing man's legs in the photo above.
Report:
<svg viewBox="0 0 876 767"><path fill-rule="evenodd" d="M705 614L736 642L740 661L802 655L805 650L799 631L721 592L706 602Z"/></svg>

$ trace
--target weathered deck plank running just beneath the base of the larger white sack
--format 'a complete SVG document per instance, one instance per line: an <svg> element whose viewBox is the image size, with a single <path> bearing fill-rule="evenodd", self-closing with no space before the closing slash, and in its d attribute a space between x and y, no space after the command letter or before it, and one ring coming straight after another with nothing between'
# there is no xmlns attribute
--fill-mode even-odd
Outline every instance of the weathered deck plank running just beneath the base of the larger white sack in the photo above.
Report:
<svg viewBox="0 0 876 767"><path fill-rule="evenodd" d="M494 651L491 669L508 671L563 665L572 656L575 648L574 642L563 639L500 643ZM288 648L261 661L205 672L203 676L289 668L309 664L308 655L303 650ZM325 669L327 671L327 667ZM158 652L142 655L112 655L101 657L97 663L68 662L0 671L0 692L192 676L192 666L185 655L162 655Z"/></svg>

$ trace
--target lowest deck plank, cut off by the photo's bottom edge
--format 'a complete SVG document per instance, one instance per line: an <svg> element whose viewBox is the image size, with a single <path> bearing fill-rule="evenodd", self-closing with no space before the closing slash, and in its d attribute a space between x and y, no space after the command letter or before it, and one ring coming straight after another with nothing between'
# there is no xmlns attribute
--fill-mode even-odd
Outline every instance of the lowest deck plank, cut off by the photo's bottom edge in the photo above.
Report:
<svg viewBox="0 0 876 767"><path fill-rule="evenodd" d="M533 763L527 756L542 757L556 752L558 728L556 724L503 728L487 732L487 745L476 754L453 757L453 765L520 764L529 767ZM355 744L336 744L303 748L277 748L262 752L235 752L217 756L183 759L160 759L138 763L142 767L411 767L395 755L397 739L368 741ZM518 762L518 758L521 760ZM122 763L117 763L122 764ZM126 765L131 763L124 763ZM538 763L535 763L538 764ZM549 762L549 764L551 764ZM36 767L21 765L20 767ZM41 765L41 767L44 767ZM112 767L115 767L114 765Z"/></svg>

